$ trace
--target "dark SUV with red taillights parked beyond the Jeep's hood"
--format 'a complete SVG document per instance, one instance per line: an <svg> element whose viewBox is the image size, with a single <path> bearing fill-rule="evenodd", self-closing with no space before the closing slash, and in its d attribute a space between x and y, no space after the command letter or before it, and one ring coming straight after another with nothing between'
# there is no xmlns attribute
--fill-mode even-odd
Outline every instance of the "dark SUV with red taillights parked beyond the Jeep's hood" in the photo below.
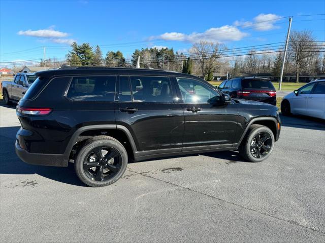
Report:
<svg viewBox="0 0 325 243"><path fill-rule="evenodd" d="M268 78L236 77L224 80L218 89L224 94L229 94L232 98L276 105L276 90Z"/></svg>

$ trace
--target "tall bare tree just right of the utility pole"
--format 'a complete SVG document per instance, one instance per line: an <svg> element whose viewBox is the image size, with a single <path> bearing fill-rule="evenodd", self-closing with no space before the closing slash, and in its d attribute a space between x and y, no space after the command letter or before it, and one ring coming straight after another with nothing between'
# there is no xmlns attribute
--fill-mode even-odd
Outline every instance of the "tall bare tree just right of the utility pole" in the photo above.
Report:
<svg viewBox="0 0 325 243"><path fill-rule="evenodd" d="M315 39L311 31L293 31L289 38L289 51L293 53L296 64L296 83L300 72L308 65L310 59L317 53Z"/></svg>

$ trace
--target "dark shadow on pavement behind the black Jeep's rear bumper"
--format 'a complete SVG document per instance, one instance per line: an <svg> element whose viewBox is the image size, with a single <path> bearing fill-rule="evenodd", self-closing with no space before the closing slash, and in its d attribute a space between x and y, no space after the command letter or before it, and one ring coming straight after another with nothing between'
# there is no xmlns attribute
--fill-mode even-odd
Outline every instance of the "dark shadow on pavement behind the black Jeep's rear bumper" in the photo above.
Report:
<svg viewBox="0 0 325 243"><path fill-rule="evenodd" d="M0 174L38 174L51 180L77 186L85 186L77 177L74 165L68 167L48 167L28 165L15 152L15 136L19 127L0 128Z"/></svg>

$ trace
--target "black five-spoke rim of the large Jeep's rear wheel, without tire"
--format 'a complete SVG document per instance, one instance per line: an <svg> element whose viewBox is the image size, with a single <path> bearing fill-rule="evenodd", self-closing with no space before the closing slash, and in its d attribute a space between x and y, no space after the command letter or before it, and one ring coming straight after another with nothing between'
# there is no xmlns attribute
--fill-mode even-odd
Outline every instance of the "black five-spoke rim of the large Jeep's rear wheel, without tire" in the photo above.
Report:
<svg viewBox="0 0 325 243"><path fill-rule="evenodd" d="M98 146L85 156L83 170L92 181L107 181L119 172L121 160L121 154L115 148Z"/></svg>

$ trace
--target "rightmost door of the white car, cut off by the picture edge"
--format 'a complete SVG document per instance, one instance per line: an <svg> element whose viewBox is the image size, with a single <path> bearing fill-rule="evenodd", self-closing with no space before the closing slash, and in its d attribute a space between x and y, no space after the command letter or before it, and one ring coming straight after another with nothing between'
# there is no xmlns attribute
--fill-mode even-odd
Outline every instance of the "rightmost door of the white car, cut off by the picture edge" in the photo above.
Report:
<svg viewBox="0 0 325 243"><path fill-rule="evenodd" d="M307 99L307 115L325 119L325 81L315 83L315 88Z"/></svg>

